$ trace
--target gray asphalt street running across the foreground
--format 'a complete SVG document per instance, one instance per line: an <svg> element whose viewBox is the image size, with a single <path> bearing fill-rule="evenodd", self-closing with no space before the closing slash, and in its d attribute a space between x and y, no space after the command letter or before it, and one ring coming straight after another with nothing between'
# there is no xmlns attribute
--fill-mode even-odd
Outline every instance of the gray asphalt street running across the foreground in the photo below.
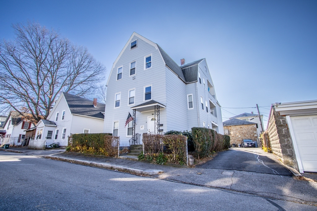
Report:
<svg viewBox="0 0 317 211"><path fill-rule="evenodd" d="M315 210L261 196L0 152L0 210Z"/></svg>

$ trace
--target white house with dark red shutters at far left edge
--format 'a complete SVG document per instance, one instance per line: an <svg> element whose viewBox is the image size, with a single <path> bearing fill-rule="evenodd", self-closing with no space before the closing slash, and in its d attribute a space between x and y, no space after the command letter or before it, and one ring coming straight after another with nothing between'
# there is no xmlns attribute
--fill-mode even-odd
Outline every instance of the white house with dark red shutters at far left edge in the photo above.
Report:
<svg viewBox="0 0 317 211"><path fill-rule="evenodd" d="M24 114L24 116L27 115L30 114ZM3 129L1 130L1 133L4 135L1 144L3 144L4 142L13 144L14 142L15 145L19 145L19 143L21 143L21 140L24 140L24 130L31 127L35 127L32 122L24 120L23 115L20 115L18 112L11 111L8 115L8 118L3 124Z"/></svg>

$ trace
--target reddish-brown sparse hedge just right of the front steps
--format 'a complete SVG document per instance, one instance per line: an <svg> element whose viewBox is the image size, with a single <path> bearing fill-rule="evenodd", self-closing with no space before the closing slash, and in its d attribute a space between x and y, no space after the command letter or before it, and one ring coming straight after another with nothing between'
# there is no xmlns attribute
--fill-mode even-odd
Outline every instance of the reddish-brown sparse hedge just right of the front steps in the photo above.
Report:
<svg viewBox="0 0 317 211"><path fill-rule="evenodd" d="M143 134L142 141L145 154L141 154L139 160L153 161L158 164L186 163L186 136Z"/></svg>

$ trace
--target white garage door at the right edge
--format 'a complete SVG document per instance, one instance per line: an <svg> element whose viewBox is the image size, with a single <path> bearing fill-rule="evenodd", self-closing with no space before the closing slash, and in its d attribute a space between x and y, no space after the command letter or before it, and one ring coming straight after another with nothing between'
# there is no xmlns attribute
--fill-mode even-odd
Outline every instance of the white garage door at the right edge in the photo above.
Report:
<svg viewBox="0 0 317 211"><path fill-rule="evenodd" d="M304 171L317 172L317 115L290 116Z"/></svg>

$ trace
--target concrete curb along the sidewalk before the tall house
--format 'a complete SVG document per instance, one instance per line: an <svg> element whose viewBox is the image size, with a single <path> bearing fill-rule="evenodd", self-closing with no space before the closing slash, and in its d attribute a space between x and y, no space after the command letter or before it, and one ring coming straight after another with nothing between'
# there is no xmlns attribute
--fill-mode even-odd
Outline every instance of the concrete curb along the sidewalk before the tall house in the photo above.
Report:
<svg viewBox="0 0 317 211"><path fill-rule="evenodd" d="M93 166L93 167L98 167L98 168L103 168L103 169L111 169L111 170L115 170L115 171L117 170L117 171L122 171L122 172L129 172L129 173L133 173L133 174L154 175L154 174L163 173L163 171L161 171L161 170L133 169L133 168L128 168L128 167L120 166L120 165L90 162L90 161L85 161L85 160L63 158L63 157L58 157L58 156L47 155L47 156L42 156L42 157L43 158L50 158L50 159L54 159L54 160L61 160L61 161L69 162L69 163L88 165L88 166Z"/></svg>

